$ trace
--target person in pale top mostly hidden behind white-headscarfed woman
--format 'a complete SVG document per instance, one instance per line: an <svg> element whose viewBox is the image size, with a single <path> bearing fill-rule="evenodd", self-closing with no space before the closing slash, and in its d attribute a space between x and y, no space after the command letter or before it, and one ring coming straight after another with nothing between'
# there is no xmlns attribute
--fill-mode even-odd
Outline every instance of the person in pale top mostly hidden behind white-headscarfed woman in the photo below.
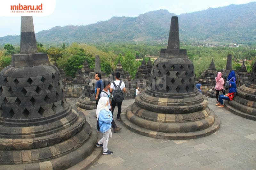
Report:
<svg viewBox="0 0 256 170"><path fill-rule="evenodd" d="M112 104L111 104L111 101L110 101L110 92L109 92L110 82L107 81L107 80L104 80L103 81L103 86L104 86L104 89L100 93L100 98L101 97L107 97L108 98L108 109L111 112L112 111ZM118 132L122 129L122 128L116 126L116 123L115 123L114 119L112 120L111 125L112 125L112 128L114 129L114 133L116 133L116 132Z"/></svg>

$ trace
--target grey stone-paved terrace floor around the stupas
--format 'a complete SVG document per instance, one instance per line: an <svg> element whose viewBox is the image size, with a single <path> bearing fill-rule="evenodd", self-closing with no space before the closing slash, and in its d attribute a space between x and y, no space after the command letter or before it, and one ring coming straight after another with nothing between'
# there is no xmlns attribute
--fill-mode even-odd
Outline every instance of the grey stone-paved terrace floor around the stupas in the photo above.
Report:
<svg viewBox="0 0 256 170"><path fill-rule="evenodd" d="M75 100L67 98L74 104ZM255 169L256 121L234 115L215 106L208 106L220 117L220 129L207 137L191 140L163 140L145 137L122 127L109 139L112 155L102 155L90 167L99 169ZM134 100L124 100L125 110ZM86 120L96 129L96 110L83 110ZM116 119L117 108L114 118ZM113 130L112 130L113 132Z"/></svg>

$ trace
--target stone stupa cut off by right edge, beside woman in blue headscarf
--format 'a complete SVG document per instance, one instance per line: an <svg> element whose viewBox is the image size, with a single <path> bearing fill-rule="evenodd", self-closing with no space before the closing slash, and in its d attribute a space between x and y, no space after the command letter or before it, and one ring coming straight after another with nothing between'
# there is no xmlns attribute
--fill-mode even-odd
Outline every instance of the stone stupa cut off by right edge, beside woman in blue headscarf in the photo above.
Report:
<svg viewBox="0 0 256 170"><path fill-rule="evenodd" d="M256 121L256 62L249 81L237 88L234 99L225 101L224 106L236 115Z"/></svg>

